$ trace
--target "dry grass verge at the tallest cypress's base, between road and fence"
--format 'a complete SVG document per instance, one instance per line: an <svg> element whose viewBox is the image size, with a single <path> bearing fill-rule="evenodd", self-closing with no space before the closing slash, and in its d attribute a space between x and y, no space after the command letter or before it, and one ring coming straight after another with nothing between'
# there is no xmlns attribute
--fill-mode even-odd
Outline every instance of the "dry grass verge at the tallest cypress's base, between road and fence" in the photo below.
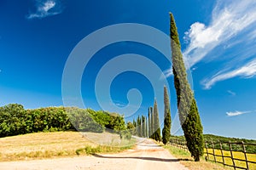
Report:
<svg viewBox="0 0 256 170"><path fill-rule="evenodd" d="M193 158L190 156L189 152L186 152L184 150L178 149L177 147L174 147L172 145L166 145L164 146L167 150L170 151L170 153L177 157L177 159L181 160L181 163L185 167L189 167L190 170L231 170L233 168L230 167L224 167L221 164L213 163L211 161L205 161L203 157L201 157L201 161L195 162Z"/></svg>

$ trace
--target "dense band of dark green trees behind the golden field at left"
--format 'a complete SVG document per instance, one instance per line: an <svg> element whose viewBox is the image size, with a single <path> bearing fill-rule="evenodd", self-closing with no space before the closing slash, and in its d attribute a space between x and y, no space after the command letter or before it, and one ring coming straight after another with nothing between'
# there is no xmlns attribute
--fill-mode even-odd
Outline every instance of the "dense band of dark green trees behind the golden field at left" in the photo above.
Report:
<svg viewBox="0 0 256 170"><path fill-rule="evenodd" d="M72 123L73 122L73 123ZM74 107L47 107L24 110L22 105L0 107L0 137L25 133L75 130L102 133L106 127L125 130L123 116L105 111Z"/></svg>

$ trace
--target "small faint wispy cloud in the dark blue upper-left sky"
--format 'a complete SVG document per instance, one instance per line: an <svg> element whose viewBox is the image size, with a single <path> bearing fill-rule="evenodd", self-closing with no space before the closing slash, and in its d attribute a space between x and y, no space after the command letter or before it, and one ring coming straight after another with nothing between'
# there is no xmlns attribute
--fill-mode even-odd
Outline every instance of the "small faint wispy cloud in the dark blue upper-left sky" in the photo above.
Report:
<svg viewBox="0 0 256 170"><path fill-rule="evenodd" d="M57 0L38 0L36 3L37 11L29 14L27 19L42 19L62 12L61 4Z"/></svg>

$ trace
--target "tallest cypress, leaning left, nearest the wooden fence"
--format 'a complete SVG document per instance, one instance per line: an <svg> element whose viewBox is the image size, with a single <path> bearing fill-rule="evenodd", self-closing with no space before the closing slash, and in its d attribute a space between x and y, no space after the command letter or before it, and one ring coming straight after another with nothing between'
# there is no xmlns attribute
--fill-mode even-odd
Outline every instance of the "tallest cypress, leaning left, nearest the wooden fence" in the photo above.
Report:
<svg viewBox="0 0 256 170"><path fill-rule="evenodd" d="M179 120L183 127L183 133L187 140L187 146L195 161L200 161L203 155L203 127L197 110L194 94L189 86L186 68L183 62L183 54L178 39L177 26L172 14L171 18L171 48L172 48L172 71L174 86L177 94L177 107Z"/></svg>

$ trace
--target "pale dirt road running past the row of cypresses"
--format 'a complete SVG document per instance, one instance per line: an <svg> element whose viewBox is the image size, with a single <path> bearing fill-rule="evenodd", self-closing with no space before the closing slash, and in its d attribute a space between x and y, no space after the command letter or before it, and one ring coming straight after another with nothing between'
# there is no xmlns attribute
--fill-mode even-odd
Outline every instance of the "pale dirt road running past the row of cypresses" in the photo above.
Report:
<svg viewBox="0 0 256 170"><path fill-rule="evenodd" d="M187 170L167 150L150 139L141 139L135 149L119 154L0 162L0 169Z"/></svg>

